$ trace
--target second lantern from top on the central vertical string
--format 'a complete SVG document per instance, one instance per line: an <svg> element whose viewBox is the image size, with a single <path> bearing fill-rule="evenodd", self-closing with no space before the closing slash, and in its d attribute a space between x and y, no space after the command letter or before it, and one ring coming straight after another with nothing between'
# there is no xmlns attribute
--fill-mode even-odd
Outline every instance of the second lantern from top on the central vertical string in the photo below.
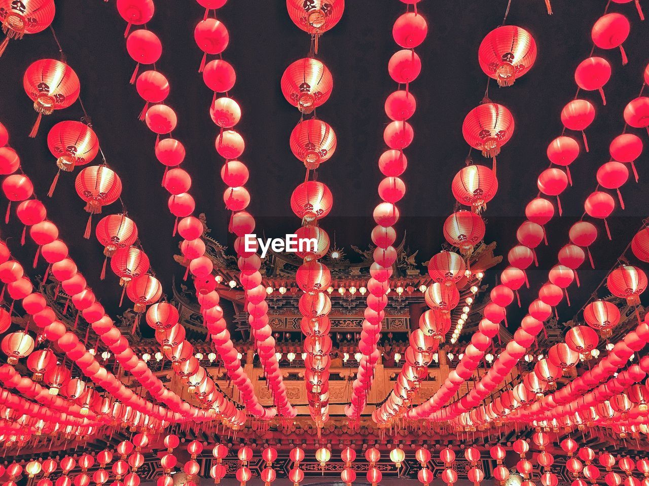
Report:
<svg viewBox="0 0 649 486"><path fill-rule="evenodd" d="M300 112L309 114L329 99L334 79L323 62L306 57L286 68L280 87L286 101Z"/></svg>

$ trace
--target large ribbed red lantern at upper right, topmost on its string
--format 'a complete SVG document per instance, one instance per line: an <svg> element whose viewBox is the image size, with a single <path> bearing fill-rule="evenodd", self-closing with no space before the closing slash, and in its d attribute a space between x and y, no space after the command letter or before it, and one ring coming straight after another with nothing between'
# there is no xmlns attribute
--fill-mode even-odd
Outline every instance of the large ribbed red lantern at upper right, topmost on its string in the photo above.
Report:
<svg viewBox="0 0 649 486"><path fill-rule="evenodd" d="M515 25L503 25L485 36L478 47L482 71L498 82L511 86L527 73L536 59L536 42L532 34Z"/></svg>

